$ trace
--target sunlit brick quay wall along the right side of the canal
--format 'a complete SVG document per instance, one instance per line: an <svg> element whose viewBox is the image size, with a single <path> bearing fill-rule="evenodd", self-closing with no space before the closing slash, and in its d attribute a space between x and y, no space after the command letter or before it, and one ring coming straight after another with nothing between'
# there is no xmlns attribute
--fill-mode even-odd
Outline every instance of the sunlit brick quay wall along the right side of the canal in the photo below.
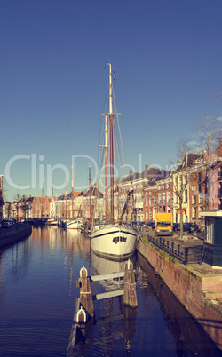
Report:
<svg viewBox="0 0 222 357"><path fill-rule="evenodd" d="M139 238L137 250L222 350L222 271L180 264L146 238Z"/></svg>

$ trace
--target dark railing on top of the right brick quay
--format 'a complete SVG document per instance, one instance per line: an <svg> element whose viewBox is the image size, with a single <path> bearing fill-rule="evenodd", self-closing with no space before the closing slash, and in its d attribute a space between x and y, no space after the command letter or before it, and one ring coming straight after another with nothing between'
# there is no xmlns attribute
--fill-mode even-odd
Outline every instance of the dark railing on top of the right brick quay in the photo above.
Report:
<svg viewBox="0 0 222 357"><path fill-rule="evenodd" d="M186 247L178 244L178 242L168 241L165 238L155 238L151 235L148 235L148 241L166 251L171 257L178 259L184 265L202 264L202 245Z"/></svg>

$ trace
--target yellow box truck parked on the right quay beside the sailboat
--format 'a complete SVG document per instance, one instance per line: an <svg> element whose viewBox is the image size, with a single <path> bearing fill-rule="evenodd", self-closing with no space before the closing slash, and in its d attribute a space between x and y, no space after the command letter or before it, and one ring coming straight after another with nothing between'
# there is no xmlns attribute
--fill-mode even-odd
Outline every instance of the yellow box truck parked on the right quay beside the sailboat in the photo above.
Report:
<svg viewBox="0 0 222 357"><path fill-rule="evenodd" d="M155 213L155 235L173 235L172 213Z"/></svg>

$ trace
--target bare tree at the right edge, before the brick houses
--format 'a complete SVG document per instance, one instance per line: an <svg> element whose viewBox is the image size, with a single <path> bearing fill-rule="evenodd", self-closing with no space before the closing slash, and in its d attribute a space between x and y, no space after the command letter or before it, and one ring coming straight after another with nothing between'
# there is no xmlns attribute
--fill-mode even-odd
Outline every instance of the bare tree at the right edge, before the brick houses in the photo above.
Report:
<svg viewBox="0 0 222 357"><path fill-rule="evenodd" d="M222 122L214 116L207 116L202 123L196 123L194 127L199 149L202 151L202 186L204 186L204 209L210 207L210 191L217 181L217 175L213 170L217 160L218 142L222 139Z"/></svg>

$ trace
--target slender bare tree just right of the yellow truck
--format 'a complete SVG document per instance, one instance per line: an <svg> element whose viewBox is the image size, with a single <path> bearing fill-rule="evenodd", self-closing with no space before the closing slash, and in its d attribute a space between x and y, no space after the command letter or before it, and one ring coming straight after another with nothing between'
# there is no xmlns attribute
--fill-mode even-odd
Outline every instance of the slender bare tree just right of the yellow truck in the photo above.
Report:
<svg viewBox="0 0 222 357"><path fill-rule="evenodd" d="M178 199L178 209L180 213L180 234L183 234L183 202L187 189L187 155L189 151L188 139L180 139L177 144L177 157L175 161L171 161L173 169L173 185L172 191Z"/></svg>

